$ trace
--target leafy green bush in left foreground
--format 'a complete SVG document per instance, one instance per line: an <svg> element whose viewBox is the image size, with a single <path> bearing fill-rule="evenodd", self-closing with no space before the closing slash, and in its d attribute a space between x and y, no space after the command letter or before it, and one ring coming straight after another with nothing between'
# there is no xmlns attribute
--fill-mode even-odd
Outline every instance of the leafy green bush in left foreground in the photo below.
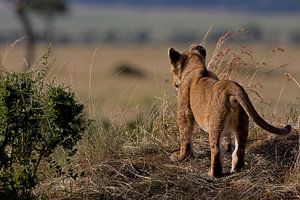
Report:
<svg viewBox="0 0 300 200"><path fill-rule="evenodd" d="M12 199L30 198L41 161L59 147L74 155L85 130L83 105L40 72L0 78L0 191Z"/></svg>

